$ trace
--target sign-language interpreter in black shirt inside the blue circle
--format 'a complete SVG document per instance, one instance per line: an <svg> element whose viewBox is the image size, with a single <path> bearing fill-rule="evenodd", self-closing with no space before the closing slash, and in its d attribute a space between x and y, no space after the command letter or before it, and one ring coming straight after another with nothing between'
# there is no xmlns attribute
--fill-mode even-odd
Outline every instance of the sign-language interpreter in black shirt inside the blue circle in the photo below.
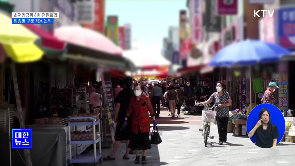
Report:
<svg viewBox="0 0 295 166"><path fill-rule="evenodd" d="M249 132L249 138L256 135L255 145L261 148L274 147L279 138L279 131L275 124L271 123L270 113L267 108L262 108L259 112L259 120L254 128Z"/></svg>

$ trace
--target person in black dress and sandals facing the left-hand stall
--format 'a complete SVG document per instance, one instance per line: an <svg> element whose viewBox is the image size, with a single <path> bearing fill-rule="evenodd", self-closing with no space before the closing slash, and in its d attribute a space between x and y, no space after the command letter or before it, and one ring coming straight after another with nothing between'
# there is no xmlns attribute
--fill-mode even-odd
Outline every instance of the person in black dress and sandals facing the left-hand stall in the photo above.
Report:
<svg viewBox="0 0 295 166"><path fill-rule="evenodd" d="M128 148L130 136L131 136L131 119L129 119L129 125L127 125L124 129L122 129L122 125L124 123L124 118L127 112L127 109L130 104L131 97L134 96L134 91L131 89L132 78L126 77L124 79L124 89L120 91L115 99L116 102L116 112L115 112L115 123L117 123L116 132L115 132L115 143L113 146L113 150L111 154L103 160L115 160L116 152L120 146L121 141L126 140L126 153L123 156L123 159L129 160L129 151ZM122 130L121 130L122 129Z"/></svg>

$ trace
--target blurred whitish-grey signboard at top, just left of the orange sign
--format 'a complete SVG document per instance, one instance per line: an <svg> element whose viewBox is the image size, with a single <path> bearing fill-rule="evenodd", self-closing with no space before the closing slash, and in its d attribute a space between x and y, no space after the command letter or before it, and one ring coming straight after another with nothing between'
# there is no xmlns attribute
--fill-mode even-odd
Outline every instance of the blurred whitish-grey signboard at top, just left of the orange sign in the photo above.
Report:
<svg viewBox="0 0 295 166"><path fill-rule="evenodd" d="M75 1L77 7L77 22L80 24L92 24L94 22L94 0Z"/></svg>

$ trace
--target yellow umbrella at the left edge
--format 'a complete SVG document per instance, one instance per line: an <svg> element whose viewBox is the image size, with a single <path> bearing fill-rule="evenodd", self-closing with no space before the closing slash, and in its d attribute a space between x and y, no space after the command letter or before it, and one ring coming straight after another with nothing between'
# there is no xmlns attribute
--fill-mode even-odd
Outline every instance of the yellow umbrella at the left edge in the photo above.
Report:
<svg viewBox="0 0 295 166"><path fill-rule="evenodd" d="M43 51L34 44L36 34L21 24L12 24L11 18L0 12L0 44L16 62L38 61Z"/></svg>

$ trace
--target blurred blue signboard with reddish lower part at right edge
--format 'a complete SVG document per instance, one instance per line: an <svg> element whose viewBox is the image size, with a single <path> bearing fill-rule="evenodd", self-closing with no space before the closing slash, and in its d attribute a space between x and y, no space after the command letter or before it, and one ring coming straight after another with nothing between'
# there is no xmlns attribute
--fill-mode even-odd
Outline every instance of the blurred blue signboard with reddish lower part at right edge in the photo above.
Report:
<svg viewBox="0 0 295 166"><path fill-rule="evenodd" d="M295 49L295 7L278 9L276 25L279 45Z"/></svg>

